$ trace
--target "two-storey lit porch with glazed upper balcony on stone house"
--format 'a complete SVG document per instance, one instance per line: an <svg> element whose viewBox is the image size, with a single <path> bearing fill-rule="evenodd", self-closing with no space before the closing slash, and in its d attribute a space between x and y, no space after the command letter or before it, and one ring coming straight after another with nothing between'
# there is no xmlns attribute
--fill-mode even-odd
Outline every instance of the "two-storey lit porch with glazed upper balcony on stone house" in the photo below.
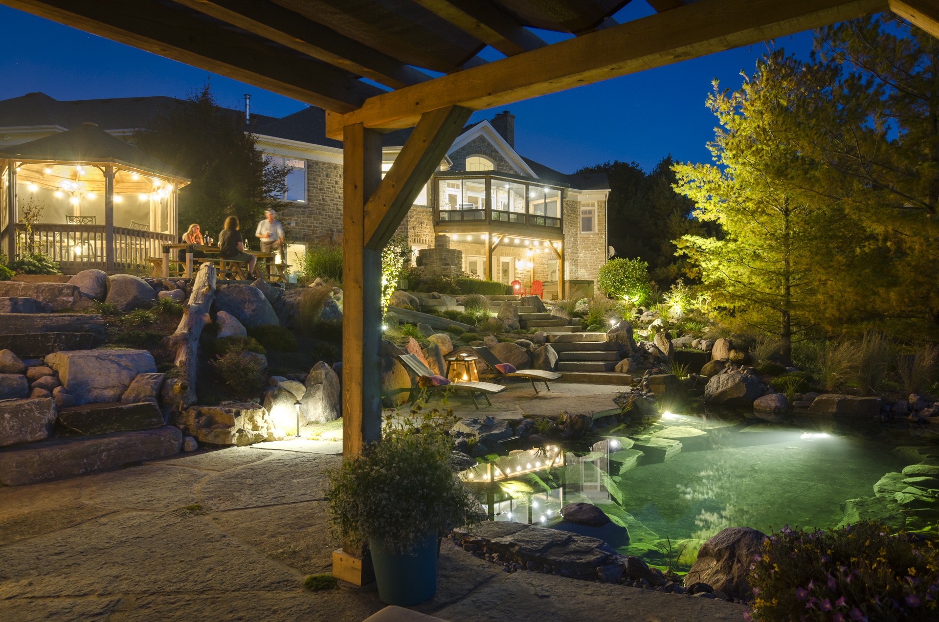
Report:
<svg viewBox="0 0 939 622"><path fill-rule="evenodd" d="M543 286L560 294L566 189L489 171L437 173L435 233L463 251L465 272L512 284L519 293Z"/></svg>

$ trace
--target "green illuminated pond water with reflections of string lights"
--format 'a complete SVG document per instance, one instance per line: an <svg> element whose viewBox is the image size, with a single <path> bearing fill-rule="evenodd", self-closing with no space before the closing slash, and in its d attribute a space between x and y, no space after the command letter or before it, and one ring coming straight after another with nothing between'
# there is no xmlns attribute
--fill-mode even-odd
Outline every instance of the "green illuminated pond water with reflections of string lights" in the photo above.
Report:
<svg viewBox="0 0 939 622"><path fill-rule="evenodd" d="M850 421L667 413L650 426L608 430L593 444L515 451L466 473L483 482L490 520L569 529L650 564L674 560L687 569L703 541L726 527L835 527L856 521L854 499L864 518L900 515L873 485L920 461L897 450L916 443L908 430ZM612 522L597 529L562 521L562 505L578 501Z"/></svg>

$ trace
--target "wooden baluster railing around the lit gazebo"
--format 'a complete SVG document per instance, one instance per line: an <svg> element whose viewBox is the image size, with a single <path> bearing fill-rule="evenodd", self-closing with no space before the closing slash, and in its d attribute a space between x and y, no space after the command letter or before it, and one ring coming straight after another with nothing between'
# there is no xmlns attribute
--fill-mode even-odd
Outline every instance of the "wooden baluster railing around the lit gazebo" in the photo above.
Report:
<svg viewBox="0 0 939 622"><path fill-rule="evenodd" d="M107 240L104 225L17 224L17 251L45 253L62 266L63 272L89 268L108 270L107 247L114 248L114 271L141 269L150 257L162 257L162 245L175 241L168 233L114 227Z"/></svg>

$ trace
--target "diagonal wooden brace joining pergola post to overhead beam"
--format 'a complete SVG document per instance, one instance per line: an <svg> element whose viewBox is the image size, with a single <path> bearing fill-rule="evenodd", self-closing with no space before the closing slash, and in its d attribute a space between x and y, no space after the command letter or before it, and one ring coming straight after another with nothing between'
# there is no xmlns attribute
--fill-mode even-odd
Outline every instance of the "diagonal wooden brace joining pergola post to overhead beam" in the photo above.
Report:
<svg viewBox="0 0 939 622"><path fill-rule="evenodd" d="M365 241L381 252L408 215L423 185L439 166L472 114L449 106L424 113L365 205Z"/></svg>

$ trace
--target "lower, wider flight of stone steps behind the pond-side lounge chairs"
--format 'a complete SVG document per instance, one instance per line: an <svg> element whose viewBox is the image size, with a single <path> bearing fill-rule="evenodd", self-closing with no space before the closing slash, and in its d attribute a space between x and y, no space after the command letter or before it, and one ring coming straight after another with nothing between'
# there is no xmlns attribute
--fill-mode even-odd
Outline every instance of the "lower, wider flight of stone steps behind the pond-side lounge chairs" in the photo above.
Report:
<svg viewBox="0 0 939 622"><path fill-rule="evenodd" d="M572 327L573 328L573 327ZM549 334L548 342L558 353L557 370L564 382L630 384L632 377L615 369L620 345L607 341L606 333L572 332Z"/></svg>

